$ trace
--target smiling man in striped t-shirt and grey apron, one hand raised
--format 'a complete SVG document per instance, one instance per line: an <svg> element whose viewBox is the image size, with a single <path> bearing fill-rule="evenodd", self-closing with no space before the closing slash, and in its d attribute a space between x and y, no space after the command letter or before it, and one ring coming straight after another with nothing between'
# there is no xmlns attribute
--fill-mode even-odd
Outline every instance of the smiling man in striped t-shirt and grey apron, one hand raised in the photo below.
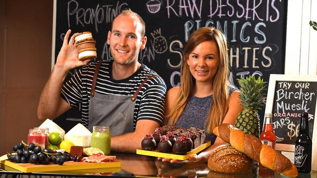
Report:
<svg viewBox="0 0 317 178"><path fill-rule="evenodd" d="M55 118L81 104L82 124L90 131L93 125L110 126L112 151L135 152L143 137L162 124L166 92L163 79L138 62L147 40L143 19L124 10L113 20L107 38L113 60L79 61L74 40L78 34L68 42L70 33L41 93L39 119ZM67 72L79 66L82 69L63 85Z"/></svg>

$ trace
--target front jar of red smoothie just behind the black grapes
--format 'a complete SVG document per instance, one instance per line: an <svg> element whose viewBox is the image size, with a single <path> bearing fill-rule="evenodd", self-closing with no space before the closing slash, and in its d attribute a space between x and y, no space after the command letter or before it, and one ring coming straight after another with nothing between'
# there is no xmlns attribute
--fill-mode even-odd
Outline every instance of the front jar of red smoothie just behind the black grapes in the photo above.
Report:
<svg viewBox="0 0 317 178"><path fill-rule="evenodd" d="M45 148L46 135L44 129L42 128L31 128L29 129L29 134L27 135L27 144L37 144Z"/></svg>

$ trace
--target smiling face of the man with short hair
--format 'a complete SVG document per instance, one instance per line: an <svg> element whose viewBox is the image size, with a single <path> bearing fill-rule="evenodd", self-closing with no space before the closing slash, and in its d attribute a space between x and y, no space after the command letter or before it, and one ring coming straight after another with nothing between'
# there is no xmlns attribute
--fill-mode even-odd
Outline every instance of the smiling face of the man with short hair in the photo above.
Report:
<svg viewBox="0 0 317 178"><path fill-rule="evenodd" d="M138 60L140 49L145 48L146 37L141 37L141 24L137 18L119 15L108 32L107 44L115 62L129 65Z"/></svg>

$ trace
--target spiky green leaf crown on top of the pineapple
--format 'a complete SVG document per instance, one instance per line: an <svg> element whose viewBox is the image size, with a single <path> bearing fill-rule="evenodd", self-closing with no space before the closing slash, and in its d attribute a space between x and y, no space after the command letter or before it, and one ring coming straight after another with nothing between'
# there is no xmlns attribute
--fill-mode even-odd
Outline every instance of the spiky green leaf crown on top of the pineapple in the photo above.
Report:
<svg viewBox="0 0 317 178"><path fill-rule="evenodd" d="M248 109L258 109L263 106L264 93L262 93L266 88L266 83L263 79L255 76L249 76L244 78L239 78L238 84L240 86L241 105Z"/></svg>

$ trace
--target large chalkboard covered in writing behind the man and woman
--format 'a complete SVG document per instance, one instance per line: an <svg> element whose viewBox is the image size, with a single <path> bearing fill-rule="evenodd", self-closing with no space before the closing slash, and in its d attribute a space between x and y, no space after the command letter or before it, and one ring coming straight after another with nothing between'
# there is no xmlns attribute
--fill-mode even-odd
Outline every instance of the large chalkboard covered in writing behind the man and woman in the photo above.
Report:
<svg viewBox="0 0 317 178"><path fill-rule="evenodd" d="M284 73L287 0L55 0L54 4L52 64L68 29L92 32L98 49L95 60L111 58L107 32L113 18L130 8L146 23L148 41L139 61L157 71L167 89L179 85L180 59L189 35L204 26L215 26L227 36L230 77L236 85L240 77L255 75L268 81L271 73ZM166 43L157 48L158 41ZM259 115L264 116L263 109Z"/></svg>

